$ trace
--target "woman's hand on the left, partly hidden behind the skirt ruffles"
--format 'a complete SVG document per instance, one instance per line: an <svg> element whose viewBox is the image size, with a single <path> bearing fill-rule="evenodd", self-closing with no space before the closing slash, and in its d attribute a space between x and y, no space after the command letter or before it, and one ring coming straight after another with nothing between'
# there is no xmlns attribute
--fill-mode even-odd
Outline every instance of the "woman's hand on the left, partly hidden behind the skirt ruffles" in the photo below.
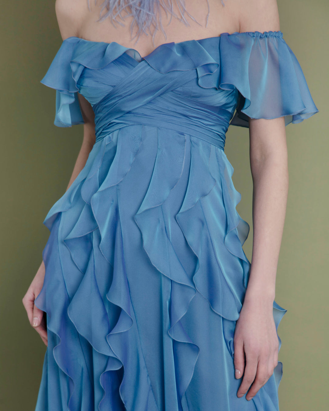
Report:
<svg viewBox="0 0 329 411"><path fill-rule="evenodd" d="M37 274L31 282L31 285L26 291L25 296L23 297L23 305L28 313L28 319L30 324L37 332L39 332L42 341L48 346L48 337L47 337L47 327L44 320L44 312L39 309L35 304L34 300L39 295L42 285L44 283L44 274L45 267L44 262L42 261Z"/></svg>

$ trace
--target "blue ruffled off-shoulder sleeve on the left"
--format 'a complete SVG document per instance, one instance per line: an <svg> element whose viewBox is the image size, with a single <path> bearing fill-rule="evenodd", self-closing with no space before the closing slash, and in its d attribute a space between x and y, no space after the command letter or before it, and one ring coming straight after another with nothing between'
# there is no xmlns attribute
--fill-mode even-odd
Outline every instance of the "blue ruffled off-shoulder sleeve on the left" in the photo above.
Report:
<svg viewBox="0 0 329 411"><path fill-rule="evenodd" d="M70 40L62 43L46 75L40 81L42 84L56 90L54 125L58 127L84 124L77 95L79 89L76 87L71 67L76 42L74 39Z"/></svg>

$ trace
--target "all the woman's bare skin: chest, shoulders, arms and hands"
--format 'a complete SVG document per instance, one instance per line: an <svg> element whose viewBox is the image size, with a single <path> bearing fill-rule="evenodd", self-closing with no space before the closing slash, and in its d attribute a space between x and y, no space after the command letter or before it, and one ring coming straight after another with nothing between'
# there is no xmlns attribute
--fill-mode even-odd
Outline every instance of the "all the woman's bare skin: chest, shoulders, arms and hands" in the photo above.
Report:
<svg viewBox="0 0 329 411"><path fill-rule="evenodd" d="M164 42L215 37L222 32L280 30L276 0L209 0L208 27L188 19L186 27L177 19L166 29L169 18L162 15L167 39L158 32L153 44L151 36L141 36L138 47L130 38L130 20L125 27L114 28L108 19L97 23L100 1L90 0L91 12L84 0L56 0L56 16L62 39L70 36L92 41L116 41L132 47L145 56ZM186 8L198 21L204 21L207 7L197 0L186 0ZM176 11L177 12L177 11ZM124 15L124 13L123 13ZM220 28L220 30L218 29ZM218 31L219 30L219 31ZM136 33L136 30L135 30ZM95 143L94 113L80 94L79 102L85 124L83 141L67 189L75 180ZM249 119L250 168L253 178L253 254L251 271L239 319L234 333L234 367L241 379L237 396L250 400L264 386L278 364L278 337L273 319L276 271L283 234L288 192L288 162L284 118ZM44 312L34 305L42 289L45 267L42 261L23 297L23 305L32 327L47 345ZM33 319L37 319L33 323Z"/></svg>

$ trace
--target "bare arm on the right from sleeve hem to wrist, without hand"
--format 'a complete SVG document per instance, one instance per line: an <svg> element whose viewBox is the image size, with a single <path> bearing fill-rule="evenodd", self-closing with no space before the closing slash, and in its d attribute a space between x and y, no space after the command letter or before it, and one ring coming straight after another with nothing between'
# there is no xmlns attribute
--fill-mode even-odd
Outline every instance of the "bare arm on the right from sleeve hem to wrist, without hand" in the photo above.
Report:
<svg viewBox="0 0 329 411"><path fill-rule="evenodd" d="M249 134L253 255L245 300L261 296L272 305L288 194L284 117L250 119Z"/></svg>

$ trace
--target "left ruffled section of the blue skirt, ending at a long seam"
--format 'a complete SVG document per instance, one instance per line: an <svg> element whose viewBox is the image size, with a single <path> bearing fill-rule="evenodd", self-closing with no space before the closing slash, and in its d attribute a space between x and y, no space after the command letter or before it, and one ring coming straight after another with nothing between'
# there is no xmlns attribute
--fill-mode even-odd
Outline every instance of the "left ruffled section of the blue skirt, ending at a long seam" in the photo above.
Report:
<svg viewBox="0 0 329 411"><path fill-rule="evenodd" d="M116 190L139 152L142 135L141 125L128 128L94 145L70 192L44 221L51 234L35 305L47 313L47 362L56 361L60 376L56 383L42 383L49 397L67 399L67 404L47 408L40 396L38 411L158 411L123 259Z"/></svg>

